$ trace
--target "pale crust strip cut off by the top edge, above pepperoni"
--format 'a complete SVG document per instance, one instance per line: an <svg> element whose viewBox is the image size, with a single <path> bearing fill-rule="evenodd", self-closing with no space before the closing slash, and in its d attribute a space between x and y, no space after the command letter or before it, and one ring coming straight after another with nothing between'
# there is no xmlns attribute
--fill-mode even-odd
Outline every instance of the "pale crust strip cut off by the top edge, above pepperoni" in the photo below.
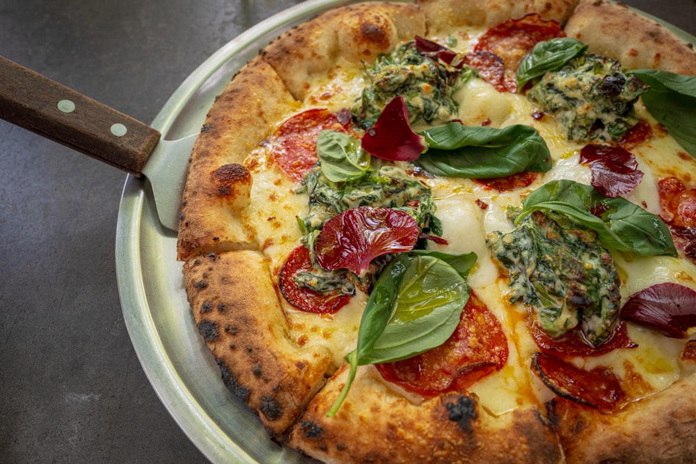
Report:
<svg viewBox="0 0 696 464"><path fill-rule="evenodd" d="M510 18L539 13L544 20L563 24L578 0L418 0L428 27L438 30L457 26L491 27Z"/></svg>

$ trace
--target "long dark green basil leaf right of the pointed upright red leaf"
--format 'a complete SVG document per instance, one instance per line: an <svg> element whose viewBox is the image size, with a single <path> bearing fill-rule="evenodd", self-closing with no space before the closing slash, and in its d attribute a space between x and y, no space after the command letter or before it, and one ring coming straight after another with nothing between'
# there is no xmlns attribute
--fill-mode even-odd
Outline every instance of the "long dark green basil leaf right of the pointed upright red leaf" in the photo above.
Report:
<svg viewBox="0 0 696 464"><path fill-rule="evenodd" d="M448 123L422 132L427 152L416 160L436 176L487 179L551 169L551 153L534 127L497 129Z"/></svg>

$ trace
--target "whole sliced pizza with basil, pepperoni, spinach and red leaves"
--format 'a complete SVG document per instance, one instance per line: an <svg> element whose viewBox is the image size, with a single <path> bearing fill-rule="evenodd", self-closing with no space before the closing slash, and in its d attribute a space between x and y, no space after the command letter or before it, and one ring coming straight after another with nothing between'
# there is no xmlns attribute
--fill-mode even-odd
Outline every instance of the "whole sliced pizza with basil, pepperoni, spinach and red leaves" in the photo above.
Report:
<svg viewBox="0 0 696 464"><path fill-rule="evenodd" d="M371 1L209 109L177 256L324 462L696 460L696 54L601 0Z"/></svg>

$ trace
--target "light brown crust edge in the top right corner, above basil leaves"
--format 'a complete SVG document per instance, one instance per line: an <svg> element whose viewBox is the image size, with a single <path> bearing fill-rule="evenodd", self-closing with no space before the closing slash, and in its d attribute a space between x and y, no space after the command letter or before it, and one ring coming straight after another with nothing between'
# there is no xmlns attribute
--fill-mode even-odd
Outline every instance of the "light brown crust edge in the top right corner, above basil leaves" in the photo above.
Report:
<svg viewBox="0 0 696 464"><path fill-rule="evenodd" d="M590 45L590 52L615 58L628 69L696 75L693 45L625 5L581 0L564 30Z"/></svg>

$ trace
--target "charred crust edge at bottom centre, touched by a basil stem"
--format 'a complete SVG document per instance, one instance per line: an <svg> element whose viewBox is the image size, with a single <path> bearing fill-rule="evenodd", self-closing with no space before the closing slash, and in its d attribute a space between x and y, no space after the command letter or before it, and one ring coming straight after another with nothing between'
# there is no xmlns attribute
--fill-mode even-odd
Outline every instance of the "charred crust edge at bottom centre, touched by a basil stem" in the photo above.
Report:
<svg viewBox="0 0 696 464"><path fill-rule="evenodd" d="M558 463L557 438L535 408L494 417L475 394L409 401L372 366L358 376L335 417L326 412L347 380L337 371L292 429L288 444L327 463Z"/></svg>

